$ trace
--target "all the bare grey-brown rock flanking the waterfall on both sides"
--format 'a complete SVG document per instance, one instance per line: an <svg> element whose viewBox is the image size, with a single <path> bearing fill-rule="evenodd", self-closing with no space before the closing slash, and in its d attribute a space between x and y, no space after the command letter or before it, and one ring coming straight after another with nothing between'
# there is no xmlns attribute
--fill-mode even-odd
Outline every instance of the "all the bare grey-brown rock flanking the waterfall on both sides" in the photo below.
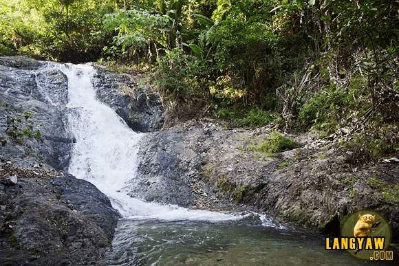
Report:
<svg viewBox="0 0 399 266"><path fill-rule="evenodd" d="M67 78L61 71L32 72L45 64L0 58L0 264L96 264L111 248L120 214L94 186L67 173L76 141L67 131ZM311 134L284 135L295 148L264 153L259 147L274 134L272 126L228 129L211 118L160 130L155 94L130 76L92 65L97 98L133 130L147 132L132 197L254 210L326 234L339 234L348 214L369 208L387 217L398 242L398 159L353 164L356 155ZM17 184L4 180L13 176Z"/></svg>

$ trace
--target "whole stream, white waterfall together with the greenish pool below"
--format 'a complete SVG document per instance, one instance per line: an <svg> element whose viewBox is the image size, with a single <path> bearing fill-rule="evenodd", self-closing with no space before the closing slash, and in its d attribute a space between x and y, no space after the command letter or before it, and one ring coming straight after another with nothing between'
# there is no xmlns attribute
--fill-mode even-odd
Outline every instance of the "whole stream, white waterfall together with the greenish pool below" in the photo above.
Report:
<svg viewBox="0 0 399 266"><path fill-rule="evenodd" d="M275 225L266 215L188 210L129 197L142 135L96 100L90 65L51 67L69 80L68 128L76 137L69 173L97 186L124 217L106 265L365 265L345 252L326 251L320 236Z"/></svg>

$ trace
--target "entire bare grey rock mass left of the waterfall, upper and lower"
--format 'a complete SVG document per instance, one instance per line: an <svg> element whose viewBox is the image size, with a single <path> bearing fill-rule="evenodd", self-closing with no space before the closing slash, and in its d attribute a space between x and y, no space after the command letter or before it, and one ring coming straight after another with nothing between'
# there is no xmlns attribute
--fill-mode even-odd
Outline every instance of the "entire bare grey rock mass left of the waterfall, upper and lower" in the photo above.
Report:
<svg viewBox="0 0 399 266"><path fill-rule="evenodd" d="M94 185L54 170L69 166L74 110L67 77L46 64L0 57L0 179L17 177L0 182L0 265L98 265L120 214Z"/></svg>

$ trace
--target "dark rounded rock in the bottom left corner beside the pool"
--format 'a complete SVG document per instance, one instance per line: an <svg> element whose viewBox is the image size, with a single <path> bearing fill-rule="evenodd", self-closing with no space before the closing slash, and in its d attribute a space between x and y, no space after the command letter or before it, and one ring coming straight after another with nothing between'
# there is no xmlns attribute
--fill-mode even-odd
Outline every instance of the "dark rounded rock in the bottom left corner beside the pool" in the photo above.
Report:
<svg viewBox="0 0 399 266"><path fill-rule="evenodd" d="M98 265L120 218L94 185L71 175L21 178L3 188L0 202L0 265Z"/></svg>

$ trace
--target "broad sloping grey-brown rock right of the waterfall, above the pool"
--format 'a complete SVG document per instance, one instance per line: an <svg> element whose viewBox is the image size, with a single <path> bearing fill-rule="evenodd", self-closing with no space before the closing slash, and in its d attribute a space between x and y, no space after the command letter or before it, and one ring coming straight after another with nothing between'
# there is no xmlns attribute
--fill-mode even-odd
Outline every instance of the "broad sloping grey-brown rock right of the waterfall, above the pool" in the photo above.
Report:
<svg viewBox="0 0 399 266"><path fill-rule="evenodd" d="M398 164L349 164L343 148L327 145L295 148L272 157L251 151L269 133L267 129L222 129L203 120L147 134L138 156L143 181L133 194L193 208L241 206L296 227L335 234L348 214L369 208L387 217L398 239L397 198L386 194L396 193ZM288 137L302 147L313 141L309 135ZM183 195L187 190L191 193ZM181 200L171 200L166 191Z"/></svg>

